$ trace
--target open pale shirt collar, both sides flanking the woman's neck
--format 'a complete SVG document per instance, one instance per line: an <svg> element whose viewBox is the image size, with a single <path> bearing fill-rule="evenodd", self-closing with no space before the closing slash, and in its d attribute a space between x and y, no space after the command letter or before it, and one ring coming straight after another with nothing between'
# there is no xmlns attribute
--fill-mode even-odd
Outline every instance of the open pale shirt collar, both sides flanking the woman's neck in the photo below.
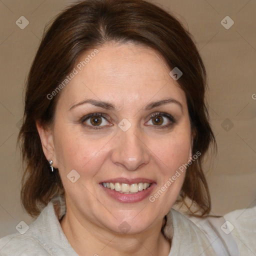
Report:
<svg viewBox="0 0 256 256"><path fill-rule="evenodd" d="M50 251L52 255L78 256L65 237L59 222L65 212L64 197L53 198L31 224L35 229L40 230L40 234L34 233L33 238L37 239L41 246L44 246L45 250ZM185 255L188 252L205 256L216 255L199 228L173 208L167 213L166 223L162 230L164 236L171 240L171 250L168 256ZM195 247L194 244L197 246Z"/></svg>

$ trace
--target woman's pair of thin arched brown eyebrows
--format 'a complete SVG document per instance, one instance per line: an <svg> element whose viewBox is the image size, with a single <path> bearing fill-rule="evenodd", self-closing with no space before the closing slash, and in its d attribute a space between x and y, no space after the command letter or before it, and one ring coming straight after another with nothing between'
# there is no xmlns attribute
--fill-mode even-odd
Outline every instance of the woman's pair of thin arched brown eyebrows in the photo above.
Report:
<svg viewBox="0 0 256 256"><path fill-rule="evenodd" d="M114 105L109 103L109 102L106 102L106 101L101 101L101 100L96 100L96 99L85 99L77 104L74 104L72 105L69 110L79 106L79 105L83 105L83 104L86 104L86 103L90 103L92 105L95 105L95 106L98 106L98 107L102 107L102 108L105 108L105 109L109 109L109 110L116 110ZM165 98L165 99L161 99L161 100L156 100L156 101L153 101L153 102L150 102L149 104L147 104L144 109L145 110L150 110L156 106L160 106L160 105L163 105L163 104L167 104L167 103L175 103L177 105L180 106L181 108L181 111L183 112L183 106L182 104L174 99L174 98Z"/></svg>

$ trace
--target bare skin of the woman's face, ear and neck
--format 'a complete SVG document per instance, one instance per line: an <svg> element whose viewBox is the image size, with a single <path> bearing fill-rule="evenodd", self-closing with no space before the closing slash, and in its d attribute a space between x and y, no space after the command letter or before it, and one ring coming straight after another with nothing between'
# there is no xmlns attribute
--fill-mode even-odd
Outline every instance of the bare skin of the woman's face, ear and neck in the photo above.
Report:
<svg viewBox="0 0 256 256"><path fill-rule="evenodd" d="M62 229L79 255L168 255L170 241L160 231L162 219L179 194L185 172L154 202L148 197L118 202L100 182L149 178L156 184L153 195L188 161L191 128L185 94L150 48L108 43L98 51L62 89L51 128L37 123L44 154L58 168L65 189ZM72 107L89 98L112 103L116 109L90 103ZM165 98L179 101L182 107L172 102L145 110L148 103ZM175 122L160 115L163 122L156 123L150 115L157 112L171 114ZM105 114L99 117L100 129L86 126L93 127L90 118L81 120L90 113ZM131 123L127 131L118 127L123 118ZM80 175L74 183L67 178L72 169ZM130 227L125 234L118 228L123 221Z"/></svg>

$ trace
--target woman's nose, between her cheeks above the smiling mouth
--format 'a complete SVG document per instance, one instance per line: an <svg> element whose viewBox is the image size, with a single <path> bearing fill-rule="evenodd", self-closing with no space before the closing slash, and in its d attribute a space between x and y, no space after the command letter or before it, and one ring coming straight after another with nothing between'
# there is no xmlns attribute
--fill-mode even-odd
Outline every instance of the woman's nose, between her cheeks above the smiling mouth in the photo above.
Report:
<svg viewBox="0 0 256 256"><path fill-rule="evenodd" d="M132 126L127 131L118 131L116 143L111 154L111 161L127 170L136 170L149 162L149 149L142 134Z"/></svg>

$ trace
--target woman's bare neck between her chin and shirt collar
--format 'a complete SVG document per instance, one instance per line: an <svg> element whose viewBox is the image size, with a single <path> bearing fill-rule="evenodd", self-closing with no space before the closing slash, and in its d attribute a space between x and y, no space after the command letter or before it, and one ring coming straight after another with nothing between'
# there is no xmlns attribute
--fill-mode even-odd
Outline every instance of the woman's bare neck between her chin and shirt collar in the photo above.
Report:
<svg viewBox="0 0 256 256"><path fill-rule="evenodd" d="M60 225L70 245L80 256L167 256L170 251L170 241L161 232L162 222L154 223L153 227L141 233L117 234L92 222L81 222L67 209Z"/></svg>

